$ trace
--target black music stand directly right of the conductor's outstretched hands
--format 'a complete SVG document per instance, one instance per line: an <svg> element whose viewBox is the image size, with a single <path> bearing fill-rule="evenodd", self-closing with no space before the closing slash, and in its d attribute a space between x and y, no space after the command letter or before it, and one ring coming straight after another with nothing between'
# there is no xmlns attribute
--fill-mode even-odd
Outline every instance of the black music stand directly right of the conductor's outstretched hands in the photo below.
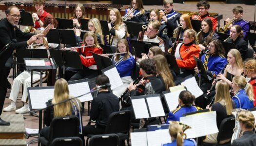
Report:
<svg viewBox="0 0 256 146"><path fill-rule="evenodd" d="M73 30L50 29L46 35L48 43L77 45L75 32Z"/></svg>

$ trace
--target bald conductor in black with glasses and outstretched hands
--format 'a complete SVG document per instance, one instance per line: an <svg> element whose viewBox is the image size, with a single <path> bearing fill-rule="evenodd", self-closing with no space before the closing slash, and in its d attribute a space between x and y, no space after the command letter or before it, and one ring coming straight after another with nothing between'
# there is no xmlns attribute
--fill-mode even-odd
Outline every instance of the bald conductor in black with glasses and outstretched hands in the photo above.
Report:
<svg viewBox="0 0 256 146"><path fill-rule="evenodd" d="M12 55L15 49L26 48L27 45L33 43L38 37L43 37L49 29L46 29L39 35L31 33L23 33L17 27L19 23L20 10L16 6L10 6L6 10L6 18L0 20L0 115L4 104L4 99L7 92L7 77L10 69L5 67L7 59ZM23 38L27 41L16 42L14 39ZM12 41L12 43L10 43ZM8 43L9 46L5 47ZM9 122L0 119L0 126L10 125Z"/></svg>

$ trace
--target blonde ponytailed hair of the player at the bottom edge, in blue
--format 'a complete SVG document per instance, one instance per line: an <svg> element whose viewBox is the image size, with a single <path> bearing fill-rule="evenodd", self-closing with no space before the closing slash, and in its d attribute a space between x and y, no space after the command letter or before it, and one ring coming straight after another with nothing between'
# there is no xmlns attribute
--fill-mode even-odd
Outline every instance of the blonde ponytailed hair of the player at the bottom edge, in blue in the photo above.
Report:
<svg viewBox="0 0 256 146"><path fill-rule="evenodd" d="M169 134L171 137L176 139L177 146L183 146L183 139L182 139L183 130L178 123L172 123L169 126Z"/></svg>

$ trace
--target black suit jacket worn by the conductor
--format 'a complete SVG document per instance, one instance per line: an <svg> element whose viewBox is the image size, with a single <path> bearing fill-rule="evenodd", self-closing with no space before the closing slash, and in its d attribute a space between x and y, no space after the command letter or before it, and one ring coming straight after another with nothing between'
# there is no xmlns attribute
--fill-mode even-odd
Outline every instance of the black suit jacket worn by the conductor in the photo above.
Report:
<svg viewBox="0 0 256 146"><path fill-rule="evenodd" d="M7 59L12 55L13 50L25 48L26 41L11 43L7 49L2 49L6 44L16 38L29 39L34 34L23 33L17 26L12 26L7 18L0 20L0 86L6 87L7 75L3 68Z"/></svg>

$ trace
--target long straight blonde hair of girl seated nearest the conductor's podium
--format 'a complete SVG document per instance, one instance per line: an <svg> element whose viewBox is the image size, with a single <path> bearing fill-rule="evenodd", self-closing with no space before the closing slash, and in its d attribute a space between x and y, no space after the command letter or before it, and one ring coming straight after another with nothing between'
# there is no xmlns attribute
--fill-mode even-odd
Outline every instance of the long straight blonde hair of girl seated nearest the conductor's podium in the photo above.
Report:
<svg viewBox="0 0 256 146"><path fill-rule="evenodd" d="M67 81L63 78L58 79L54 85L54 96L53 96L52 104L59 103L69 98L70 96L69 96ZM73 99L73 101L77 109L80 110L77 104L77 100ZM73 106L71 102L64 102L64 103L58 104L54 106L54 117L72 115L72 108Z"/></svg>

